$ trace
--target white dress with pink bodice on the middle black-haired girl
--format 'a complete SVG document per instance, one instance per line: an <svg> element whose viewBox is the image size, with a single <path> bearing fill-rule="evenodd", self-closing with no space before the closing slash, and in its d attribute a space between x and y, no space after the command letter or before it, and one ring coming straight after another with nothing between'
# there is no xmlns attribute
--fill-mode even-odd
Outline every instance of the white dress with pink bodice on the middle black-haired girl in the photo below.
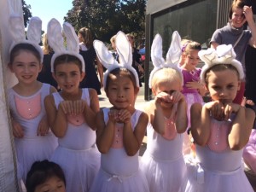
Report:
<svg viewBox="0 0 256 192"><path fill-rule="evenodd" d="M102 109L105 124L108 123L109 108ZM141 111L136 110L131 116L134 130ZM148 182L139 169L138 155L128 156L123 146L123 124L115 127L113 145L108 154L101 155L101 168L90 192L148 192Z"/></svg>

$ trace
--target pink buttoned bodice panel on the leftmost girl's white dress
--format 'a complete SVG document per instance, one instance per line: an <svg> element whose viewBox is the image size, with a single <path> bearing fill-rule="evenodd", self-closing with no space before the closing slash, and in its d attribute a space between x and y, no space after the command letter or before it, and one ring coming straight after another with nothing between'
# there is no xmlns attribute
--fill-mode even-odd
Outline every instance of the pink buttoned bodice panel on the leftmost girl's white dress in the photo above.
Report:
<svg viewBox="0 0 256 192"><path fill-rule="evenodd" d="M41 94L25 98L15 96L17 112L24 119L34 119L41 112Z"/></svg>

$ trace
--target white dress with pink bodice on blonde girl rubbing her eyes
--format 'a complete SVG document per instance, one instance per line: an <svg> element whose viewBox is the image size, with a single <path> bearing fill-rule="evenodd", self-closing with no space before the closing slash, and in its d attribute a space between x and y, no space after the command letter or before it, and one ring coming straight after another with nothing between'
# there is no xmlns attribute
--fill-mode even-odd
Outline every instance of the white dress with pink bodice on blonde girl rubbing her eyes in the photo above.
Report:
<svg viewBox="0 0 256 192"><path fill-rule="evenodd" d="M177 106L176 106L177 107ZM150 192L183 192L187 172L183 160L183 134L178 134L174 125L176 110L166 119L165 135L154 131L148 123L147 149L141 167L147 177Z"/></svg>

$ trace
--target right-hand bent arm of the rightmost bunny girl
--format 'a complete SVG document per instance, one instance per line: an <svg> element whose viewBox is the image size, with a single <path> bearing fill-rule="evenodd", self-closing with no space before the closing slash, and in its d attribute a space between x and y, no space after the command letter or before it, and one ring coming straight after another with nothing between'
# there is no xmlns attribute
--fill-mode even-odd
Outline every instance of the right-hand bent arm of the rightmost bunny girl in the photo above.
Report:
<svg viewBox="0 0 256 192"><path fill-rule="evenodd" d="M225 106L225 115L227 118L230 113L236 113L236 118L233 121L232 129L229 134L230 148L233 150L240 150L243 148L250 137L255 113L250 108L243 108L240 105L231 103ZM226 119L227 119L226 118Z"/></svg>

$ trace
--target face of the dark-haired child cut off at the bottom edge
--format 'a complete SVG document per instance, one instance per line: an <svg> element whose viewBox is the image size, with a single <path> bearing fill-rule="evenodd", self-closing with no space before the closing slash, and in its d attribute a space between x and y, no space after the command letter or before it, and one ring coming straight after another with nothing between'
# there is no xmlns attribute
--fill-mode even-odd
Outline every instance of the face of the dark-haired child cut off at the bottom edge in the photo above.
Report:
<svg viewBox="0 0 256 192"><path fill-rule="evenodd" d="M35 192L66 192L65 183L59 177L50 177L36 187Z"/></svg>

